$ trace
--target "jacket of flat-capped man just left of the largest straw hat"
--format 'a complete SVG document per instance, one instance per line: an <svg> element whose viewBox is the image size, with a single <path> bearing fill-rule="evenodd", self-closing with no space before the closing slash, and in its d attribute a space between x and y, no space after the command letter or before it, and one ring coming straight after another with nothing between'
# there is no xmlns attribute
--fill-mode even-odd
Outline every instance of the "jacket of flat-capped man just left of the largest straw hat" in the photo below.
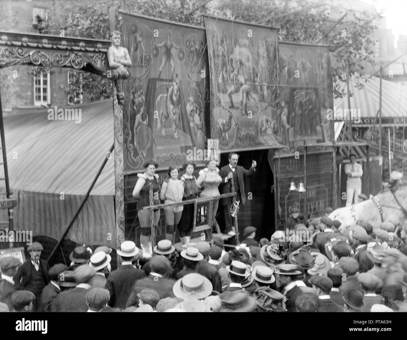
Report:
<svg viewBox="0 0 407 340"><path fill-rule="evenodd" d="M141 293L143 289L155 290L160 295L160 300L166 297L173 297L173 286L175 284L173 279L163 279L159 276L148 275L143 279L137 280L127 299L126 307L138 306L138 293Z"/></svg>

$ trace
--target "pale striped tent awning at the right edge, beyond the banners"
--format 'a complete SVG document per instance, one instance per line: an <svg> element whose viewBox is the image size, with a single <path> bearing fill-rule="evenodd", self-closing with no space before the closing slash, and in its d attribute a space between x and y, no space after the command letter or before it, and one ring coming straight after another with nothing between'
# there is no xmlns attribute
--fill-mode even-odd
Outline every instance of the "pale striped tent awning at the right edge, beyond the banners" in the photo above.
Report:
<svg viewBox="0 0 407 340"><path fill-rule="evenodd" d="M350 109L360 112L361 126L372 125L379 111L380 78L372 77L364 85L362 89L358 89L352 80L349 82L350 92L353 94L350 97ZM346 93L346 83L341 88ZM349 108L347 95L334 100L334 111L335 108ZM378 123L377 121L376 124ZM382 80L382 124L407 125L407 87L385 79Z"/></svg>

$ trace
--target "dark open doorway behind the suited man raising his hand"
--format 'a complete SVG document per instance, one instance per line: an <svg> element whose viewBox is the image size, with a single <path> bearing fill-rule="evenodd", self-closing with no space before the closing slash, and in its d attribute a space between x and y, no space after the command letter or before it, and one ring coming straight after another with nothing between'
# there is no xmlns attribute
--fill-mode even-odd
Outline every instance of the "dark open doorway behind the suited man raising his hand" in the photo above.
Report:
<svg viewBox="0 0 407 340"><path fill-rule="evenodd" d="M252 160L257 162L257 171L253 177L245 180L246 203L240 204L239 209L239 239L243 241L243 229L252 225L257 228L256 240L260 238L270 239L274 232L274 193L271 192L271 186L274 185L273 172L267 161L268 150L254 150L239 152L238 165L249 169L252 166ZM229 163L228 154L221 154L220 167ZM251 194L250 194L251 193ZM223 206L219 205L217 222L224 232ZM235 244L235 238L228 240L229 244Z"/></svg>

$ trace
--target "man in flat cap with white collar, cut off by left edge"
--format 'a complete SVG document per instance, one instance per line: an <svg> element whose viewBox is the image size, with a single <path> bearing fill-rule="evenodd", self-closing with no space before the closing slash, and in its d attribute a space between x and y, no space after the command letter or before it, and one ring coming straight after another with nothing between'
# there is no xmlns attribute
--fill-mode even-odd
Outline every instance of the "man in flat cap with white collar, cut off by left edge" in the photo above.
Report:
<svg viewBox="0 0 407 340"><path fill-rule="evenodd" d="M20 265L20 260L15 257L7 256L0 259L0 302L6 303L9 307L9 311L13 310L11 296L17 291L14 286L13 276Z"/></svg>

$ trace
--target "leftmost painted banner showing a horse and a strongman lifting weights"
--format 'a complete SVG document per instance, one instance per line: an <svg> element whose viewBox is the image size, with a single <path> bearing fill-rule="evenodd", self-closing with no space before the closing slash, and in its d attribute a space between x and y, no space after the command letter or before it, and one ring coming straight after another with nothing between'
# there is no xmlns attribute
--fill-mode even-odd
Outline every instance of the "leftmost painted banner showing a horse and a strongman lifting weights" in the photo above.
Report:
<svg viewBox="0 0 407 340"><path fill-rule="evenodd" d="M123 109L124 170L142 168L145 159L180 165L188 150L206 144L205 30L124 15L122 32L132 61L125 89L131 99Z"/></svg>

